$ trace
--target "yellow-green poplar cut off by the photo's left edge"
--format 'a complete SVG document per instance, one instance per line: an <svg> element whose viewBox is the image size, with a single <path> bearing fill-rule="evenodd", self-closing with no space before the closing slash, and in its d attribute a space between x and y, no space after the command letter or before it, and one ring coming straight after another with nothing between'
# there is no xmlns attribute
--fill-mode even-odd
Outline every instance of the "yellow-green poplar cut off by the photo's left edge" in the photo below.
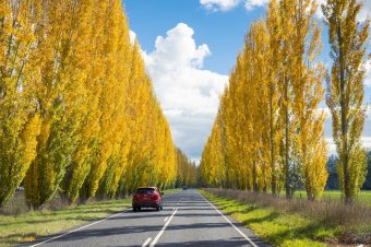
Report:
<svg viewBox="0 0 371 247"><path fill-rule="evenodd" d="M37 1L0 1L0 208L36 156L40 117L32 101L37 63L35 33L28 23L38 21L39 8Z"/></svg>

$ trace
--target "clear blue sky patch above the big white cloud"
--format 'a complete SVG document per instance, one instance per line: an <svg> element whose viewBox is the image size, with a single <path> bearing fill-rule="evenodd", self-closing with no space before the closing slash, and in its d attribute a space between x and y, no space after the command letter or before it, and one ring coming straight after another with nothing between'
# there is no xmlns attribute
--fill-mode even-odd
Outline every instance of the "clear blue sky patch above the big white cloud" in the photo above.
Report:
<svg viewBox="0 0 371 247"><path fill-rule="evenodd" d="M252 20L265 15L264 8L251 11L243 8L212 12L199 0L123 0L133 30L144 50L153 50L154 40L178 23L193 28L198 44L207 44L212 56L204 69L229 73L236 55L243 45L244 33Z"/></svg>

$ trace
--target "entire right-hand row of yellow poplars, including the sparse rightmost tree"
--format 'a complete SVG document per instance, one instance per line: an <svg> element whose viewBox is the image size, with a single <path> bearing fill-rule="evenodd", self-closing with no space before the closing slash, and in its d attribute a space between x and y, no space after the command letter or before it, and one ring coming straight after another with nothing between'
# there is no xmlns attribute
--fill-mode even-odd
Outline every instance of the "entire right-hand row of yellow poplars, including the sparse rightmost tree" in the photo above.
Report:
<svg viewBox="0 0 371 247"><path fill-rule="evenodd" d="M322 4L333 59L327 72L318 8L315 0L271 0L266 17L251 24L202 154L204 186L285 190L292 198L302 185L309 200L321 198L328 176L326 116L319 107L325 99L343 197L355 200L367 174L360 137L370 25L357 22L360 1Z"/></svg>

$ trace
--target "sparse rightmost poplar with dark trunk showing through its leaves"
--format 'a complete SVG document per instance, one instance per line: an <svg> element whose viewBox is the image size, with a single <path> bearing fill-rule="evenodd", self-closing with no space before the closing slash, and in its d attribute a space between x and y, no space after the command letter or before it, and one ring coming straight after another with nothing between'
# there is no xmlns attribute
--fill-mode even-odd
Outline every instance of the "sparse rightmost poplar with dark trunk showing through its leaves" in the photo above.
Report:
<svg viewBox="0 0 371 247"><path fill-rule="evenodd" d="M332 114L339 156L337 173L346 203L355 201L367 173L366 152L361 146L366 115L362 64L370 21L357 21L362 7L357 0L326 0L322 5L334 60L327 77L326 104Z"/></svg>

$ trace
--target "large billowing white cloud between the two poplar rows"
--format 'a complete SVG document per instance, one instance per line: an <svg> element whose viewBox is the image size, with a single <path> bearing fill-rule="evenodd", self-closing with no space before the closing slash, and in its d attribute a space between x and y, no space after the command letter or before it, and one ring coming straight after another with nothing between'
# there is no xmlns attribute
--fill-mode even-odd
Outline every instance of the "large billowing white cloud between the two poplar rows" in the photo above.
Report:
<svg viewBox="0 0 371 247"><path fill-rule="evenodd" d="M199 161L228 77L203 69L212 52L206 44L198 46L193 34L179 23L143 57L176 144Z"/></svg>

